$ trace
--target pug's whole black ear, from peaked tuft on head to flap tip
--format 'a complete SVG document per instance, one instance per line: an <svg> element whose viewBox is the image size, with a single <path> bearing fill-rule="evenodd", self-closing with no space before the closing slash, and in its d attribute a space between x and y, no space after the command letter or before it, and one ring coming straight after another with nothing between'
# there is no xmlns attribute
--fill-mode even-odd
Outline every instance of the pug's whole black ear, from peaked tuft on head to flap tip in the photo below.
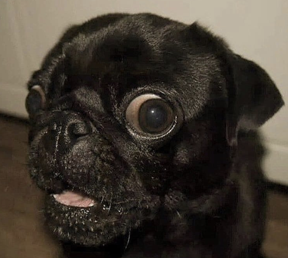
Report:
<svg viewBox="0 0 288 258"><path fill-rule="evenodd" d="M226 137L230 146L237 144L239 129L257 128L283 106L269 75L256 63L235 55L223 39L197 22L185 28L183 35L193 47L215 53L224 61L228 90Z"/></svg>

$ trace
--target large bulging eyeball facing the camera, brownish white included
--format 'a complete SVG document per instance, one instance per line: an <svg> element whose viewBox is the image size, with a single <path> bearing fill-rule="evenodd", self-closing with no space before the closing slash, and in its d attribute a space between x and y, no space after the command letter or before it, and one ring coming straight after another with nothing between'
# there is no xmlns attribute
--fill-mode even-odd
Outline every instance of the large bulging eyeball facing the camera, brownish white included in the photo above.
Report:
<svg viewBox="0 0 288 258"><path fill-rule="evenodd" d="M161 134L173 125L175 113L164 99L155 94L144 94L130 102L126 120L140 132Z"/></svg>

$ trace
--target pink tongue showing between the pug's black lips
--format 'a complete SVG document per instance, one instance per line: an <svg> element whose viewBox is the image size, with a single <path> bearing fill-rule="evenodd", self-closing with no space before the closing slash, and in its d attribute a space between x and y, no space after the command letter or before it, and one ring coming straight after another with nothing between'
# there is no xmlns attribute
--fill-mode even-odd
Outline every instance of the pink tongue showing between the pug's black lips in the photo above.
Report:
<svg viewBox="0 0 288 258"><path fill-rule="evenodd" d="M63 193L53 196L56 201L67 206L92 207L95 204L89 197L71 191L63 191Z"/></svg>

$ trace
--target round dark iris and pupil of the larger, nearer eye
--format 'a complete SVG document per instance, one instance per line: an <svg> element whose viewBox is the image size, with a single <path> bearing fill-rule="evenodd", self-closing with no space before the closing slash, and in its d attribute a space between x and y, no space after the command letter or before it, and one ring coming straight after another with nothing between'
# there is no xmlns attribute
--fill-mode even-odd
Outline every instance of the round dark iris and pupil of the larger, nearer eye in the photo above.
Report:
<svg viewBox="0 0 288 258"><path fill-rule="evenodd" d="M144 132L162 132L171 125L172 109L160 99L144 102L139 110L139 125Z"/></svg>

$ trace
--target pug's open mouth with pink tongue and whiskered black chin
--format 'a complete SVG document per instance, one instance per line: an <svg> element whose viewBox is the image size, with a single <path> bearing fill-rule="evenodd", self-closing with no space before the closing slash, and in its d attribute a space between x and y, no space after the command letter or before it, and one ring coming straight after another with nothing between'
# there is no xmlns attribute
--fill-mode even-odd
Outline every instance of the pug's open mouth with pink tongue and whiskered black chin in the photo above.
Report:
<svg viewBox="0 0 288 258"><path fill-rule="evenodd" d="M118 192L90 195L62 181L50 182L45 207L48 228L58 239L83 246L100 248L125 238L129 230L152 220L160 205L159 197L144 192L116 199Z"/></svg>

